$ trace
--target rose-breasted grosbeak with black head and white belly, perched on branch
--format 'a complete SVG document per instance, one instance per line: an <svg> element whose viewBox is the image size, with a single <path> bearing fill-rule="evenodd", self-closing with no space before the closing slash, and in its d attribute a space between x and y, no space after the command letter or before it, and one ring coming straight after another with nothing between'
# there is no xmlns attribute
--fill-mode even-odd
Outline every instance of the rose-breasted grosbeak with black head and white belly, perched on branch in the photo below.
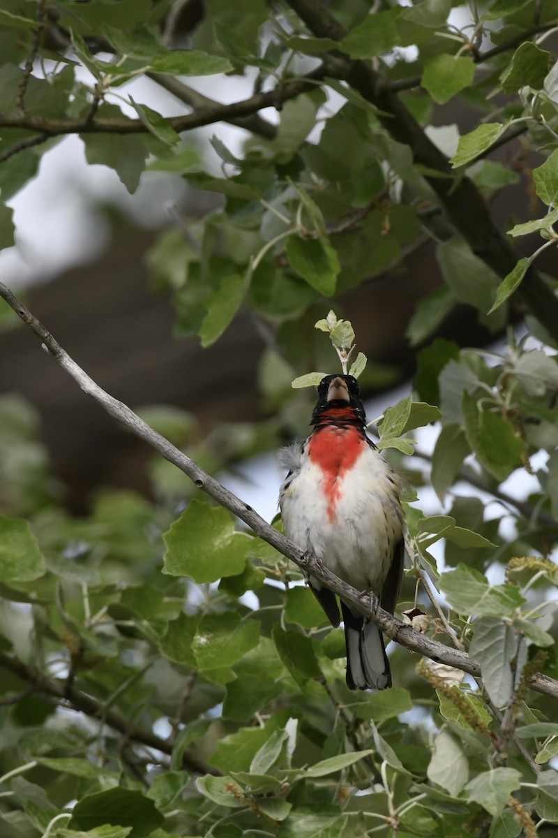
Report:
<svg viewBox="0 0 558 838"><path fill-rule="evenodd" d="M401 585L404 541L396 474L366 437L359 385L352 375L326 375L312 414L314 430L284 450L289 468L279 493L285 534L311 551L335 576L371 591L393 613ZM310 577L332 625L340 623L335 594ZM392 685L384 641L375 623L341 600L351 690Z"/></svg>

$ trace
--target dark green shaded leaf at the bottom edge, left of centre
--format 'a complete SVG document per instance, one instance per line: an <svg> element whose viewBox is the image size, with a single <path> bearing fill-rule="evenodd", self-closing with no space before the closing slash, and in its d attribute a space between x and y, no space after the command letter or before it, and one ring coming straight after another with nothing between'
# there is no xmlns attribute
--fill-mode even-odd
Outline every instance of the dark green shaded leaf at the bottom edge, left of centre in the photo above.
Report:
<svg viewBox="0 0 558 838"><path fill-rule="evenodd" d="M146 838L164 818L152 800L140 791L114 789L86 794L78 800L72 810L69 825L82 830L91 830L103 824L131 826L130 838Z"/></svg>

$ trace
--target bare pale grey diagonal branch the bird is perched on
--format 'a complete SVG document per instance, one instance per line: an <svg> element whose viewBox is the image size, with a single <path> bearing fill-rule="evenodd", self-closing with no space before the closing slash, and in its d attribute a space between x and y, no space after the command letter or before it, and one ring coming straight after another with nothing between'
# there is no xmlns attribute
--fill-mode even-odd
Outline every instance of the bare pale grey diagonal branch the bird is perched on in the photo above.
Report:
<svg viewBox="0 0 558 838"><path fill-rule="evenodd" d="M3 297L6 303L23 320L23 323L26 323L38 338L42 340L44 348L54 358L56 363L79 384L84 393L91 396L110 416L125 425L137 437L140 437L151 445L151 447L155 448L169 463L173 463L177 468L180 468L198 489L202 489L212 499L216 500L218 504L229 510L229 512L232 512L233 515L237 515L256 535L259 535L260 538L267 541L268 544L282 553L283 556L294 561L306 576L311 575L318 579L326 587L329 587L331 591L335 592L339 597L342 597L346 603L351 603L357 611L370 617L390 639L395 640L398 644L405 646L410 651L418 652L431 660L453 666L458 670L468 672L470 675L482 675L479 664L475 660L471 660L465 652L459 649L452 649L449 646L439 643L438 640L429 638L424 634L419 634L411 626L402 623L401 620L393 617L392 614L383 608L376 607L376 600L373 595L366 592L358 592L354 587L347 585L346 582L336 577L315 556L305 553L299 546L294 544L294 541L290 541L279 530L275 530L274 527L269 525L251 506L244 503L235 494L225 489L217 480L202 471L197 463L194 463L185 453L182 453L182 451L172 445L165 437L162 437L160 433L154 431L130 407L102 390L70 358L69 354L64 352L64 349L54 340L49 331L44 328L44 325L33 316L28 308L18 300L18 297L3 285L2 282L0 282L0 297ZM533 690L545 693L545 695L553 698L558 698L558 681L546 675L541 675L540 673L534 675L531 679L530 686Z"/></svg>

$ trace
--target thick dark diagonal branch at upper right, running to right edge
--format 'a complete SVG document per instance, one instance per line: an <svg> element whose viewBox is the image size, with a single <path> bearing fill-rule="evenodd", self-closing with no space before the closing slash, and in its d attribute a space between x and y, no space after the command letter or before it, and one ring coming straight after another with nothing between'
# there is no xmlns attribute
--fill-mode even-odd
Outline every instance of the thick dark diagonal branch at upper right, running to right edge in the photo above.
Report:
<svg viewBox="0 0 558 838"><path fill-rule="evenodd" d="M335 20L320 0L288 0L288 3L318 38L339 41L346 35L346 28ZM463 173L453 171L448 158L389 89L383 75L365 61L352 60L340 50L332 50L328 55L328 75L346 80L366 101L376 106L377 118L390 137L408 146L414 162L426 172L437 173L425 173L424 178L438 195L449 220L463 235L475 256L479 256L499 277L506 277L517 264L518 256L494 225L489 209L473 182ZM547 331L558 339L558 297L540 274L530 270L515 293Z"/></svg>

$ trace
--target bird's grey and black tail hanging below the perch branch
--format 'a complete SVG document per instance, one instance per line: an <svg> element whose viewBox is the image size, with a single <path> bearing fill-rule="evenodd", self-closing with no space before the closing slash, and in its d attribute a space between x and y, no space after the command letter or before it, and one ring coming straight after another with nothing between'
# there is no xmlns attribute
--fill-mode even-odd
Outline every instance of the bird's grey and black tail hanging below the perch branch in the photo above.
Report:
<svg viewBox="0 0 558 838"><path fill-rule="evenodd" d="M347 686L350 690L385 690L392 685L384 639L376 623L351 613L341 602L345 623Z"/></svg>

